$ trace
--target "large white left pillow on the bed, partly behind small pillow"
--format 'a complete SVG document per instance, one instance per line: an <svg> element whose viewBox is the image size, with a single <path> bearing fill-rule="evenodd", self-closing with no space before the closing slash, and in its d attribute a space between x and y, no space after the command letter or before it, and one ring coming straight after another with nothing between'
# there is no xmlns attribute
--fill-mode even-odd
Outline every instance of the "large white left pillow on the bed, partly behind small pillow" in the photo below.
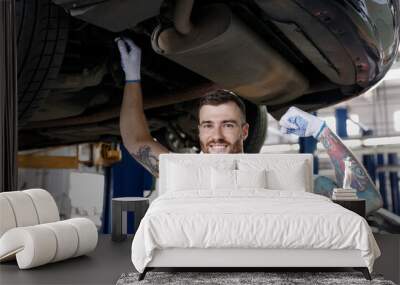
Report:
<svg viewBox="0 0 400 285"><path fill-rule="evenodd" d="M211 169L230 170L235 161L218 161L215 165L168 163L167 191L209 190L211 189Z"/></svg>

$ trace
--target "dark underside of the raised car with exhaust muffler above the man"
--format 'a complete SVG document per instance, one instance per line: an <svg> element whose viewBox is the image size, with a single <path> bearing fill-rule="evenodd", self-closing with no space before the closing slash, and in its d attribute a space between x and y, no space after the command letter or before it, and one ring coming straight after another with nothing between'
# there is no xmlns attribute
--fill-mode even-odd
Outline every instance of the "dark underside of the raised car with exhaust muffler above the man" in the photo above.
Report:
<svg viewBox="0 0 400 285"><path fill-rule="evenodd" d="M54 2L54 3L53 3ZM246 152L268 112L315 111L376 85L399 49L397 1L19 0L19 149L119 140L124 76L114 39L142 49L145 114L173 151L198 149L197 100L246 103Z"/></svg>

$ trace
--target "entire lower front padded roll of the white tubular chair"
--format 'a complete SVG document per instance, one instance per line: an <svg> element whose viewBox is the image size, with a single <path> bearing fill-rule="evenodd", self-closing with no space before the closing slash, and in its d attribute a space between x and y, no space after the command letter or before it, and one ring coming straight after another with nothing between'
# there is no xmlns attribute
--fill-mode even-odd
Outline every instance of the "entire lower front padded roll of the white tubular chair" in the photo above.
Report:
<svg viewBox="0 0 400 285"><path fill-rule="evenodd" d="M86 254L96 248L97 228L86 218L17 227L0 238L0 261L17 258L20 269Z"/></svg>

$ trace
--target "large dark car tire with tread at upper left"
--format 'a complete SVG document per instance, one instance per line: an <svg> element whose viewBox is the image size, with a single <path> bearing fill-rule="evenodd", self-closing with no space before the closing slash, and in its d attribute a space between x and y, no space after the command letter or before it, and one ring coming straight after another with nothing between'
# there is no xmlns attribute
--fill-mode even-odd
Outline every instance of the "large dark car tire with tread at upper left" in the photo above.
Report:
<svg viewBox="0 0 400 285"><path fill-rule="evenodd" d="M50 92L64 58L68 15L51 0L16 0L18 121L26 123Z"/></svg>

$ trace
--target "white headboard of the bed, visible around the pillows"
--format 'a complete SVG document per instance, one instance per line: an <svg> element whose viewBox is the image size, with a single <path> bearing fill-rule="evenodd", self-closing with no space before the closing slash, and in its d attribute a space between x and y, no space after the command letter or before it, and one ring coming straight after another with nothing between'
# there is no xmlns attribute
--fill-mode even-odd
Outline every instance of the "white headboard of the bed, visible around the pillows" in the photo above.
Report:
<svg viewBox="0 0 400 285"><path fill-rule="evenodd" d="M313 156L312 154L265 154L265 153L239 153L239 154L193 154L193 153L166 153L160 155L159 165L159 194L164 194L167 189L168 167L171 163L190 166L212 166L218 160L233 161L238 166L276 168L286 171L285 177L290 179L292 165L304 164L305 185L307 192L313 192Z"/></svg>

